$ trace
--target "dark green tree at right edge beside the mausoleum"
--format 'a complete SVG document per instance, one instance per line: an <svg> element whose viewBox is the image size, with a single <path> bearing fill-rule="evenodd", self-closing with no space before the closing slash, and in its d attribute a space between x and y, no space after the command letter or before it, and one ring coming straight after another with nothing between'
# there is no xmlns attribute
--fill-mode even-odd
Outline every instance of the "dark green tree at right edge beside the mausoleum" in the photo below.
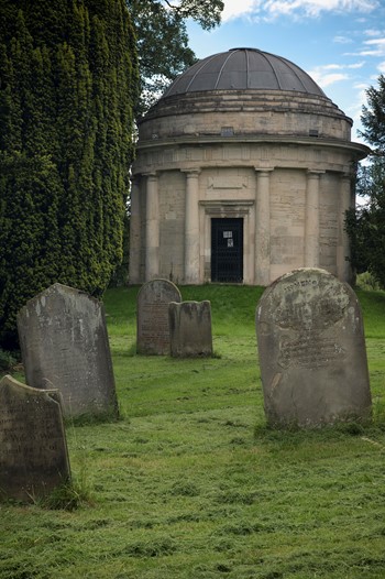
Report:
<svg viewBox="0 0 385 579"><path fill-rule="evenodd" d="M369 271L385 288L385 77L378 88L366 91L367 106L362 109L361 135L372 145L369 166L358 174L358 193L366 199L348 212L346 230L352 245L352 264L359 273Z"/></svg>

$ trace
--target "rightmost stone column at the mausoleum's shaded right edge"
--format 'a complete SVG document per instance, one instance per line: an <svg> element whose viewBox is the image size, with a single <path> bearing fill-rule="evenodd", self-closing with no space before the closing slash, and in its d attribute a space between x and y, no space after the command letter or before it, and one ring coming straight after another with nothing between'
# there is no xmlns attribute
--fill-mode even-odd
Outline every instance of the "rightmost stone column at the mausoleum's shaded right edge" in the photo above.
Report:
<svg viewBox="0 0 385 579"><path fill-rule="evenodd" d="M341 175L338 211L338 245L337 245L337 275L341 282L352 282L350 258L350 240L345 231L345 212L352 207L351 176Z"/></svg>

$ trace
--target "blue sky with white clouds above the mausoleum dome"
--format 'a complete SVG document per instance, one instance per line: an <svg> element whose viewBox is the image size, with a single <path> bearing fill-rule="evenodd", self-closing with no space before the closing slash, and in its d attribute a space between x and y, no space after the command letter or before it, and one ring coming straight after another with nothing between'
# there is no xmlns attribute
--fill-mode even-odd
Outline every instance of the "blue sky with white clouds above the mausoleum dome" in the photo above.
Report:
<svg viewBox="0 0 385 579"><path fill-rule="evenodd" d="M352 141L369 87L385 75L385 0L224 0L222 23L205 32L188 24L198 58L251 47L306 70L353 119Z"/></svg>

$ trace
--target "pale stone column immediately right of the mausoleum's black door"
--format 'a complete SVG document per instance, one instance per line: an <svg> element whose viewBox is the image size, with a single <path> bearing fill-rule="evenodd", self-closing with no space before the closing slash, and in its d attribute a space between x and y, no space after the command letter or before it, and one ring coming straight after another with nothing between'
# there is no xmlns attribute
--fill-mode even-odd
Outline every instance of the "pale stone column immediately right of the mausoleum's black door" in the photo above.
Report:
<svg viewBox="0 0 385 579"><path fill-rule="evenodd" d="M268 285L270 278L270 178L273 168L257 168L255 196L255 283Z"/></svg>

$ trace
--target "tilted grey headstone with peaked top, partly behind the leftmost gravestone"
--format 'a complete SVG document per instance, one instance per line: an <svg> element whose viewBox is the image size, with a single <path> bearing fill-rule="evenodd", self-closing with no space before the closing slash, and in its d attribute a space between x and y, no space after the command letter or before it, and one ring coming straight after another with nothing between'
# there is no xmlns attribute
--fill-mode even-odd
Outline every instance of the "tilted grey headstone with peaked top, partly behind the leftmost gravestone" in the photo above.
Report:
<svg viewBox="0 0 385 579"><path fill-rule="evenodd" d="M102 304L54 284L18 314L26 383L57 389L66 417L117 415L118 405Z"/></svg>

